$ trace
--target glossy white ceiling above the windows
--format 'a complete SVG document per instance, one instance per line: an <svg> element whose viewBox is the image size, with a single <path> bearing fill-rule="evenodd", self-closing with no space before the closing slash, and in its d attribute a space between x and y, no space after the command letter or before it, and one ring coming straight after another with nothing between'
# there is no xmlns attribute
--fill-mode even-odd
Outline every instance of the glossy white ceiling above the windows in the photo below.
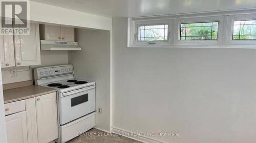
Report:
<svg viewBox="0 0 256 143"><path fill-rule="evenodd" d="M106 17L140 17L256 8L255 0L31 0Z"/></svg>

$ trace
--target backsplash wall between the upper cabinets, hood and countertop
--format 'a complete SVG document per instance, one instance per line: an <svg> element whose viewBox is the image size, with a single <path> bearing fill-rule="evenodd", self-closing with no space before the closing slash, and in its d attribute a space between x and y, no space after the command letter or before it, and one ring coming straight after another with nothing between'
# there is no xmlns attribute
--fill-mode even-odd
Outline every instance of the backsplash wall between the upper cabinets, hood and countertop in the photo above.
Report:
<svg viewBox="0 0 256 143"><path fill-rule="evenodd" d="M50 65L68 64L67 51L44 51L41 50L41 65L29 67L2 68L3 84L33 80L33 68ZM10 69L17 69L17 77L11 77Z"/></svg>

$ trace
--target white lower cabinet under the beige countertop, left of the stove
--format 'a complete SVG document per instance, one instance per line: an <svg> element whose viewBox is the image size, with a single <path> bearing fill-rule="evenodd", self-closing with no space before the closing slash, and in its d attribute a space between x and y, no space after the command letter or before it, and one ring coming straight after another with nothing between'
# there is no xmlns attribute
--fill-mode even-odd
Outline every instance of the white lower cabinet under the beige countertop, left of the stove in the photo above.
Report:
<svg viewBox="0 0 256 143"><path fill-rule="evenodd" d="M49 143L58 138L56 93L7 103L5 114L8 143Z"/></svg>

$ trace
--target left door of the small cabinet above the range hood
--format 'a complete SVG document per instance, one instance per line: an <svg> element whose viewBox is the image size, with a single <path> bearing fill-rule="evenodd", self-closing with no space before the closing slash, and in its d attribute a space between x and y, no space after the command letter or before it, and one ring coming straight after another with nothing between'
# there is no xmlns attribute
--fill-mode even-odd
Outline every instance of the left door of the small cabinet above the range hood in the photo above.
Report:
<svg viewBox="0 0 256 143"><path fill-rule="evenodd" d="M46 40L60 41L61 40L60 26L45 25L45 37L46 37Z"/></svg>

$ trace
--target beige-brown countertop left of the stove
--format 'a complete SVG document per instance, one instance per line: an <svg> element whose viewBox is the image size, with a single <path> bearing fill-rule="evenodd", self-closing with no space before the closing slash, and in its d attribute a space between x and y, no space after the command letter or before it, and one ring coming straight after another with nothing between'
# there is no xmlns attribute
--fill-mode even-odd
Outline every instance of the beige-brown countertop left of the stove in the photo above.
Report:
<svg viewBox="0 0 256 143"><path fill-rule="evenodd" d="M26 87L4 90L4 103L33 98L53 92L57 92L57 90L38 85L29 85Z"/></svg>

